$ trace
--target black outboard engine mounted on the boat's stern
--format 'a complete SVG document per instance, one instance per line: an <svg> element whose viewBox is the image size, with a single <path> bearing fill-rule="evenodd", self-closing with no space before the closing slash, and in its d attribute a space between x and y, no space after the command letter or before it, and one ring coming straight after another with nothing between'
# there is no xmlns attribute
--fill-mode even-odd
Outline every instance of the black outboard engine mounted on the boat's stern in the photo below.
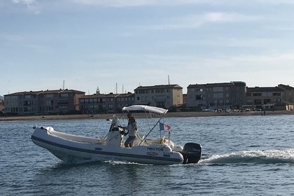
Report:
<svg viewBox="0 0 294 196"><path fill-rule="evenodd" d="M197 163L202 155L202 146L193 142L185 144L183 151L183 164Z"/></svg>

